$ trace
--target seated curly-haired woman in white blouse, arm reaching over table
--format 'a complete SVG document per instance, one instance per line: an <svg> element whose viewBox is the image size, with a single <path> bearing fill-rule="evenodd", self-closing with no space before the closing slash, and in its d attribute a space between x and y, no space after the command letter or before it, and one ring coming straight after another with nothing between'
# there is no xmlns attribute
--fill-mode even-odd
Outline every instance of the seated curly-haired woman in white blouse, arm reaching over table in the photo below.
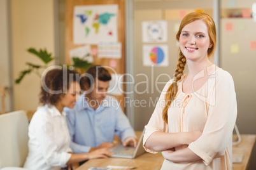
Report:
<svg viewBox="0 0 256 170"><path fill-rule="evenodd" d="M111 154L106 148L89 154L73 154L69 148L70 136L63 108L73 108L78 100L80 84L76 75L72 70L63 69L53 69L45 75L40 94L44 106L38 108L29 124L29 155L25 168L61 169L68 164Z"/></svg>

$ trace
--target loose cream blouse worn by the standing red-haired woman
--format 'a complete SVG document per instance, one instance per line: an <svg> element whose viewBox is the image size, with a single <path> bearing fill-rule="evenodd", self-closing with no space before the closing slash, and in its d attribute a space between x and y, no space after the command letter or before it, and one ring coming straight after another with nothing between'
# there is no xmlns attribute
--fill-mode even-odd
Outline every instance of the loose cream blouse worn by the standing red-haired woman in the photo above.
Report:
<svg viewBox="0 0 256 170"><path fill-rule="evenodd" d="M178 81L178 93L168 110L168 124L162 119L162 110L164 96L173 79L164 87L152 117L145 126L143 147L147 152L157 153L145 147L146 140L155 131L178 133L201 130L203 134L188 145L201 160L182 163L164 160L162 169L232 169L232 131L237 105L231 75L217 69L204 86L191 94L183 93L182 81L183 77ZM175 150L185 147L176 147Z"/></svg>

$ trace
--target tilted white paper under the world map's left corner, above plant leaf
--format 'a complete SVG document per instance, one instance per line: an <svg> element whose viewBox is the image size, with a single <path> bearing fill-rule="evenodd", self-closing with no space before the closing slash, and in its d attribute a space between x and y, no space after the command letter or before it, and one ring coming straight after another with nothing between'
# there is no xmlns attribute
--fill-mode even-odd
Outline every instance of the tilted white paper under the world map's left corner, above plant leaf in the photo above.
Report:
<svg viewBox="0 0 256 170"><path fill-rule="evenodd" d="M90 54L90 46L89 45L81 46L81 47L69 50L69 57L71 59L71 62L73 61L72 60L73 57L85 59L90 63L94 62L94 58L92 58L92 55Z"/></svg>

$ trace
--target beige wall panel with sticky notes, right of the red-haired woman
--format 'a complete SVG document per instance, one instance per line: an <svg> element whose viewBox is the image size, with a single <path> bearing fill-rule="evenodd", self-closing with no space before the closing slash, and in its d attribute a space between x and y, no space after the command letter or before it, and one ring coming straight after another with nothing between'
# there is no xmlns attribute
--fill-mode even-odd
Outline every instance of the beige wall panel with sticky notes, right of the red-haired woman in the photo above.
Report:
<svg viewBox="0 0 256 170"><path fill-rule="evenodd" d="M222 10L252 9L253 0L236 1L231 7L222 1ZM226 28L231 23L232 29ZM256 41L256 22L252 18L222 18L220 27L220 66L234 79L238 101L236 124L240 133L256 134L256 49L250 42ZM256 144L252 151L251 169L256 169Z"/></svg>

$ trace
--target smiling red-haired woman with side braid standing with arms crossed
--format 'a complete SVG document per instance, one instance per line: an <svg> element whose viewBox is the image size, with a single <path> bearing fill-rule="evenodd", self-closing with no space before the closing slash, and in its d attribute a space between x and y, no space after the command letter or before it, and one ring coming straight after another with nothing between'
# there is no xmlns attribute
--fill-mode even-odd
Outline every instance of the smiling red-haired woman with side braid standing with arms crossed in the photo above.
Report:
<svg viewBox="0 0 256 170"><path fill-rule="evenodd" d="M215 23L206 13L189 13L176 40L177 69L145 126L143 146L162 152L162 169L232 169L236 93L231 75L209 59L216 46Z"/></svg>

